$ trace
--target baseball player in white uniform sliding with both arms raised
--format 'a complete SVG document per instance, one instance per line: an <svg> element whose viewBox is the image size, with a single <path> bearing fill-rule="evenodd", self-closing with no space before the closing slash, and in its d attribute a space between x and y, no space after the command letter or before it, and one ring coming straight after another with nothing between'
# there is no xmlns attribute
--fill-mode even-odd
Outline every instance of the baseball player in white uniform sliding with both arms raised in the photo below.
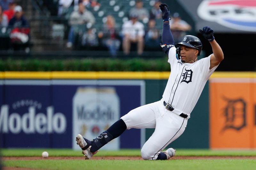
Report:
<svg viewBox="0 0 256 170"><path fill-rule="evenodd" d="M143 159L166 160L173 157L176 150L169 148L162 152L163 149L184 132L206 81L224 59L219 44L214 40L213 30L207 26L199 31L210 42L213 54L197 60L202 43L192 35L184 36L176 49L169 25L169 7L161 4L160 9L164 20L161 47L168 55L172 69L163 98L131 110L93 141L78 134L76 141L85 159L91 159L103 145L131 128L155 128L141 149Z"/></svg>

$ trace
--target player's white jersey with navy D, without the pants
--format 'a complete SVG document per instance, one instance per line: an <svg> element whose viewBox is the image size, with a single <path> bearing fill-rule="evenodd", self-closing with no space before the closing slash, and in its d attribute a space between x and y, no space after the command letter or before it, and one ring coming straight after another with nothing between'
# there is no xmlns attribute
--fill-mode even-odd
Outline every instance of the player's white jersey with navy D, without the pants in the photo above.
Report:
<svg viewBox="0 0 256 170"><path fill-rule="evenodd" d="M195 63L182 63L176 58L176 48L171 48L168 54L171 74L164 90L163 99L169 103L177 115L190 115L199 99L206 81L218 67L211 70L210 57L200 59Z"/></svg>

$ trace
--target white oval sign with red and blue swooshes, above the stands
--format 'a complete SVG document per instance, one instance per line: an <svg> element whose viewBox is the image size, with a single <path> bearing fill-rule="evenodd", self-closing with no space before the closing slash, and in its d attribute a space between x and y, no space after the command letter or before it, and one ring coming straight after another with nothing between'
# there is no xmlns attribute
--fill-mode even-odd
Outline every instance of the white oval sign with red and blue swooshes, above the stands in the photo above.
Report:
<svg viewBox="0 0 256 170"><path fill-rule="evenodd" d="M256 30L256 0L204 0L197 8L200 18L229 28Z"/></svg>

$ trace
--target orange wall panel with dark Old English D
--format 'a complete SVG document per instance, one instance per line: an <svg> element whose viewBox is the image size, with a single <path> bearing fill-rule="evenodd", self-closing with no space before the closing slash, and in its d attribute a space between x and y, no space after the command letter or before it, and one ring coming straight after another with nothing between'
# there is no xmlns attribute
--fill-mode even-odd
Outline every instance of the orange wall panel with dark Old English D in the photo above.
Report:
<svg viewBox="0 0 256 170"><path fill-rule="evenodd" d="M210 80L210 148L256 148L251 78Z"/></svg>

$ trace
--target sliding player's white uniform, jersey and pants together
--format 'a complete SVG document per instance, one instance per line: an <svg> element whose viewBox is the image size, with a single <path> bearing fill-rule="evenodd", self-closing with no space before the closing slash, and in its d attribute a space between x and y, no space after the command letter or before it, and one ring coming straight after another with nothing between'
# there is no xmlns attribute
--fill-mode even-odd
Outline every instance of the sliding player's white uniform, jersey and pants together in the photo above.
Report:
<svg viewBox="0 0 256 170"><path fill-rule="evenodd" d="M176 49L171 47L168 57L172 70L163 98L137 107L121 117L127 129L155 128L152 136L141 148L141 156L147 160L157 159L158 154L184 132L206 81L217 68L215 66L209 70L211 55L192 64L182 63L176 59ZM164 101L175 109L167 110ZM181 113L189 116L185 119L179 116Z"/></svg>

